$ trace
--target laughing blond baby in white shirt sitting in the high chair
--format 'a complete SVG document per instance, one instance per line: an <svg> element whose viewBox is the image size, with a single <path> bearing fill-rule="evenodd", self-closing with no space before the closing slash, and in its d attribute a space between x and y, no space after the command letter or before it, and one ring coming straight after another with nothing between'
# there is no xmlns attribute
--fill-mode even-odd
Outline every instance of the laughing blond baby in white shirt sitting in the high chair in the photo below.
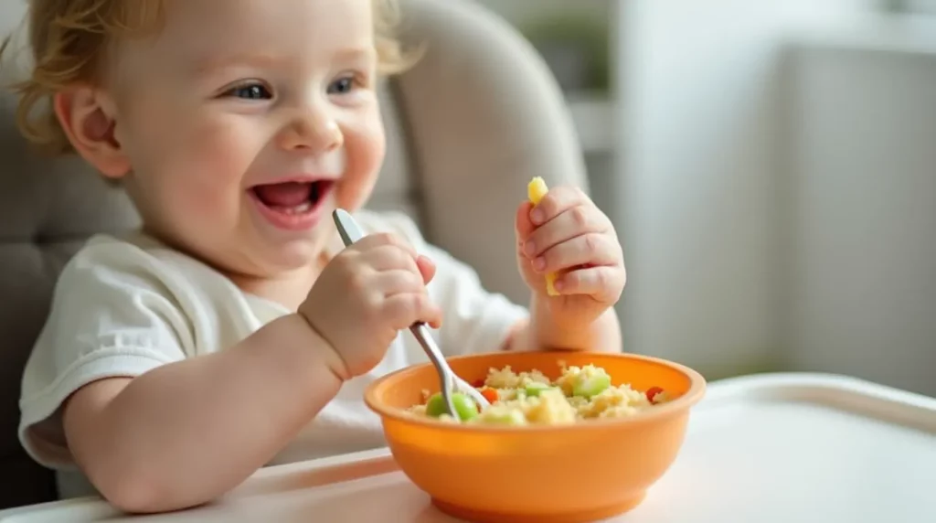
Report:
<svg viewBox="0 0 936 523"><path fill-rule="evenodd" d="M405 216L360 210L385 152L375 86L406 61L389 2L30 7L24 134L121 183L143 220L67 264L25 370L22 444L64 496L168 511L265 465L381 446L362 391L425 361L400 334L417 321L448 356L621 350L622 248L578 189L519 204L529 308ZM336 208L369 235L344 249Z"/></svg>

